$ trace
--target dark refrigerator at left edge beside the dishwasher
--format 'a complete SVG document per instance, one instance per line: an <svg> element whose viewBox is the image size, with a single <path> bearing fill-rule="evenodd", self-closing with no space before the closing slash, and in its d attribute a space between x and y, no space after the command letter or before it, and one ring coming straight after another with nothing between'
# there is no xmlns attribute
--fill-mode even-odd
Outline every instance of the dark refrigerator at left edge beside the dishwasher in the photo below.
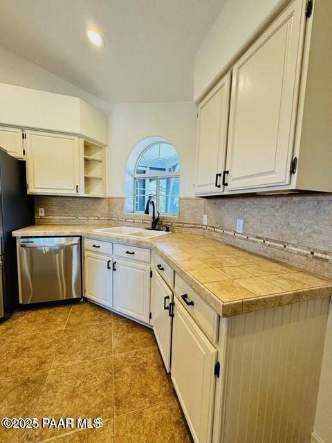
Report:
<svg viewBox="0 0 332 443"><path fill-rule="evenodd" d="M34 199L26 193L26 162L0 147L0 320L19 305L16 239L12 231L35 223Z"/></svg>

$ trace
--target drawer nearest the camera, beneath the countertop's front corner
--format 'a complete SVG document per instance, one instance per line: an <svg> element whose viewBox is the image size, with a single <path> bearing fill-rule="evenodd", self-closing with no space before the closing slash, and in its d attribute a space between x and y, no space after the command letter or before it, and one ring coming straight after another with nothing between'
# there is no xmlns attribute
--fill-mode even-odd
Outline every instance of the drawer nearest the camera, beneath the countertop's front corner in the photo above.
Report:
<svg viewBox="0 0 332 443"><path fill-rule="evenodd" d="M175 291L181 305L196 320L204 332L216 343L218 338L219 315L205 302L192 287L189 286L178 274L175 275ZM194 305L187 305L182 296L186 295L185 300L194 302Z"/></svg>

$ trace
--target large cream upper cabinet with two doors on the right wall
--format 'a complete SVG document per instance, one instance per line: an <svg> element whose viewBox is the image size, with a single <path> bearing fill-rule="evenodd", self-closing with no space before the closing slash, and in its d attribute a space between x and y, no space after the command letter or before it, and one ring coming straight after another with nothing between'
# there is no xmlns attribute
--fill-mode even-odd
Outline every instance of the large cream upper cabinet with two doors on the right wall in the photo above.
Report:
<svg viewBox="0 0 332 443"><path fill-rule="evenodd" d="M331 15L290 1L199 104L195 195L332 192Z"/></svg>

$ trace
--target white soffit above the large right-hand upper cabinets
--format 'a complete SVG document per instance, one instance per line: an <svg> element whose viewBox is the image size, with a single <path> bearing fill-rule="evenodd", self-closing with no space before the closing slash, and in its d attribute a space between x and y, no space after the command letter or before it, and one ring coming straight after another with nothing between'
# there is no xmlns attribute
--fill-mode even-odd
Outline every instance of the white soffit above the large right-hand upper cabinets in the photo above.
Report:
<svg viewBox="0 0 332 443"><path fill-rule="evenodd" d="M198 102L234 58L288 0L228 0L195 57L194 100Z"/></svg>

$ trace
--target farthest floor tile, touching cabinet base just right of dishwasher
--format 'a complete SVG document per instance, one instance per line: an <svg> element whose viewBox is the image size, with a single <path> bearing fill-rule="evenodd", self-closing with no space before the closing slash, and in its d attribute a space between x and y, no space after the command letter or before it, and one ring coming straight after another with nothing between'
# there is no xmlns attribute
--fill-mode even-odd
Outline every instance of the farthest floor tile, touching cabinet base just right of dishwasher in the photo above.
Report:
<svg viewBox="0 0 332 443"><path fill-rule="evenodd" d="M102 323L113 319L114 317L111 311L93 305L91 302L83 302L73 305L71 314L68 317L67 326L75 327L89 323Z"/></svg>

